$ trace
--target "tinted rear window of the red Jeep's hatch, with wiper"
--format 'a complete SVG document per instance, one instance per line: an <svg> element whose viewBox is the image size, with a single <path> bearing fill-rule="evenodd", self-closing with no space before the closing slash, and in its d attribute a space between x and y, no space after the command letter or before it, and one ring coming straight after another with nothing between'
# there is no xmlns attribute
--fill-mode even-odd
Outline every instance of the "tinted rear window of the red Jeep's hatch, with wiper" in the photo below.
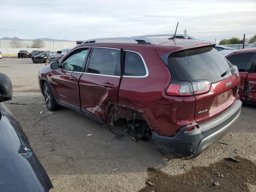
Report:
<svg viewBox="0 0 256 192"><path fill-rule="evenodd" d="M221 77L232 65L212 46L175 52L170 54L167 62L172 80L214 83L232 76L232 72L228 72Z"/></svg>

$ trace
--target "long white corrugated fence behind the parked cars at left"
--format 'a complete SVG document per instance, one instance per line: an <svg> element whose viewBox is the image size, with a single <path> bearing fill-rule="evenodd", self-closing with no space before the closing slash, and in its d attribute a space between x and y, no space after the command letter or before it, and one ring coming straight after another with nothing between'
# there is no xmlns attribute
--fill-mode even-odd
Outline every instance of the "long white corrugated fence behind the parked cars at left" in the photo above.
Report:
<svg viewBox="0 0 256 192"><path fill-rule="evenodd" d="M75 41L0 40L0 52L4 56L17 56L20 50L61 51L75 46Z"/></svg>

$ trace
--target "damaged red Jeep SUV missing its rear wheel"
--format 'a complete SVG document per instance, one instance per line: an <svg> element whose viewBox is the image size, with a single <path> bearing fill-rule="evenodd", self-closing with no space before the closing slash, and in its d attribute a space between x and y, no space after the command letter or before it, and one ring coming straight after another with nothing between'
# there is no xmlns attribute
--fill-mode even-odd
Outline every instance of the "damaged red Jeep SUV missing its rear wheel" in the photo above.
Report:
<svg viewBox="0 0 256 192"><path fill-rule="evenodd" d="M238 69L215 44L154 36L87 40L42 67L47 108L123 123L133 140L152 136L165 155L198 156L239 117Z"/></svg>

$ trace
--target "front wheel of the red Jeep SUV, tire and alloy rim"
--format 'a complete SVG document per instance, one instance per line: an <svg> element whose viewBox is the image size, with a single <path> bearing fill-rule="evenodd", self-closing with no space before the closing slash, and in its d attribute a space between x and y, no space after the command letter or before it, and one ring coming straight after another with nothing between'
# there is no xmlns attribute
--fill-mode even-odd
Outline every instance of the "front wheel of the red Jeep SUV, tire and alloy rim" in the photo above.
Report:
<svg viewBox="0 0 256 192"><path fill-rule="evenodd" d="M58 103L56 102L52 94L52 90L47 82L45 82L43 85L43 91L44 91L44 101L48 110L50 111L58 110L60 108L60 105L58 105Z"/></svg>

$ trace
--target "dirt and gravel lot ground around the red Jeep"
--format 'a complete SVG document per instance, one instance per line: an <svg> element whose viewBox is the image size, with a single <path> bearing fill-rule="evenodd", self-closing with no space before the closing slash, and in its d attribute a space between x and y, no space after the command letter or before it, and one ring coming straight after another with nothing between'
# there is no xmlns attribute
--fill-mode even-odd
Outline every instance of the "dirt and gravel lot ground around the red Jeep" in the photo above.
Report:
<svg viewBox="0 0 256 192"><path fill-rule="evenodd" d="M256 191L256 106L243 105L238 122L222 139L228 145L214 144L192 160L169 161L152 142L134 142L130 136L108 142L114 138L108 127L68 108L47 115L37 78L43 65L30 58L3 58L0 72L12 80L14 98L6 105L52 180L52 191ZM122 126L113 130L125 134ZM240 162L225 159L234 156Z"/></svg>

